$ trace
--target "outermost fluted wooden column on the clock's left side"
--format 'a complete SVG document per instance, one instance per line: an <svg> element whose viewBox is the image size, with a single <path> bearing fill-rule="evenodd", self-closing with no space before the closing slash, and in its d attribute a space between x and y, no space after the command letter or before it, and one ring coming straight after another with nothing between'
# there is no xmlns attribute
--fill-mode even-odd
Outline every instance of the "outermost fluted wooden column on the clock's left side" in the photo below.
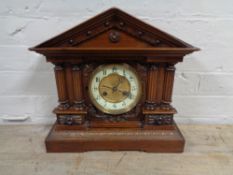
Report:
<svg viewBox="0 0 233 175"><path fill-rule="evenodd" d="M69 107L68 94L66 89L65 69L61 65L54 68L57 83L59 109L67 109Z"/></svg>

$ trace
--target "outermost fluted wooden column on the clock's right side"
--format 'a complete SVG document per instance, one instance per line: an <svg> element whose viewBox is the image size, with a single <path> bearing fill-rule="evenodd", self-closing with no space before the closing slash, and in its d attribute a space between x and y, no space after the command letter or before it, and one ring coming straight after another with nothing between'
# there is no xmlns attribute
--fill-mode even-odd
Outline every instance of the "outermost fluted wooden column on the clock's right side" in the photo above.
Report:
<svg viewBox="0 0 233 175"><path fill-rule="evenodd" d="M163 90L163 105L162 108L170 109L170 103L172 102L172 91L175 76L174 65L168 65L165 69L164 77L164 90Z"/></svg>

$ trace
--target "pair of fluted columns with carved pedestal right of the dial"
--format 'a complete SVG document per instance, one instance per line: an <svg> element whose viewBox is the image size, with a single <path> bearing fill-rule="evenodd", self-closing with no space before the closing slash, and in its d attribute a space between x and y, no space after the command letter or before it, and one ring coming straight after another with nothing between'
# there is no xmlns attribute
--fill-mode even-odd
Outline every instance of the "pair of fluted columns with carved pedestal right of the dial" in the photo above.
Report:
<svg viewBox="0 0 233 175"><path fill-rule="evenodd" d="M144 128L170 125L176 109L172 107L174 63L148 65L146 102L143 108Z"/></svg>

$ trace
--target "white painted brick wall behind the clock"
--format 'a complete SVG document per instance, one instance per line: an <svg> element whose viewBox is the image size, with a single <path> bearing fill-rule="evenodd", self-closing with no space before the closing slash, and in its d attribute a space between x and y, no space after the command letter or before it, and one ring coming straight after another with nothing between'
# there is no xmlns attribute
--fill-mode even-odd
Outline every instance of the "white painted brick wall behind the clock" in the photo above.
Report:
<svg viewBox="0 0 233 175"><path fill-rule="evenodd" d="M231 0L2 0L0 116L53 121L53 66L28 48L112 6L202 49L177 65L176 120L233 123Z"/></svg>

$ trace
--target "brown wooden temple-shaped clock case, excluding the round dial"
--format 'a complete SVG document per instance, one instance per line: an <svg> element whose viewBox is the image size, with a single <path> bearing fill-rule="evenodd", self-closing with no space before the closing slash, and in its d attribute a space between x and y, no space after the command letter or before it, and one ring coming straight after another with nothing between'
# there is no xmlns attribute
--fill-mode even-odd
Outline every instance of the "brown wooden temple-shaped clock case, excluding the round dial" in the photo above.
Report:
<svg viewBox="0 0 233 175"><path fill-rule="evenodd" d="M112 8L30 50L55 65L59 105L48 152L183 151L171 106L174 65L198 48ZM129 64L142 83L139 103L120 115L100 112L87 93L93 70L111 63Z"/></svg>

